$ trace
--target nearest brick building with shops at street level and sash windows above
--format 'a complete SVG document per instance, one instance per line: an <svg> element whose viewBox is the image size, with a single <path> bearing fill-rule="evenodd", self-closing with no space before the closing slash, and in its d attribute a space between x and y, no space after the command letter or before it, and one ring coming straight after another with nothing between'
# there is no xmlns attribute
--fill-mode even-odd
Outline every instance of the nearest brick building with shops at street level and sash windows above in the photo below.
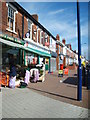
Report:
<svg viewBox="0 0 90 120"><path fill-rule="evenodd" d="M15 54L17 64L41 64L46 70L56 70L56 38L17 2L0 2L0 42L2 64L9 64ZM7 60L7 61L6 61Z"/></svg>

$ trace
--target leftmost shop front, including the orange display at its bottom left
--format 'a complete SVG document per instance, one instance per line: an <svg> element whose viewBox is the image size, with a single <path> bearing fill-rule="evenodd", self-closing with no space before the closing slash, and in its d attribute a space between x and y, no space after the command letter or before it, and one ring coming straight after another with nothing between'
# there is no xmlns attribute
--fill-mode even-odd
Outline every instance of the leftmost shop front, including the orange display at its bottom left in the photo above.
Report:
<svg viewBox="0 0 90 120"><path fill-rule="evenodd" d="M12 64L22 65L22 40L17 40L8 35L0 34L0 44L2 49L2 61L0 65L0 84L9 85L10 66ZM14 63L13 63L14 62Z"/></svg>

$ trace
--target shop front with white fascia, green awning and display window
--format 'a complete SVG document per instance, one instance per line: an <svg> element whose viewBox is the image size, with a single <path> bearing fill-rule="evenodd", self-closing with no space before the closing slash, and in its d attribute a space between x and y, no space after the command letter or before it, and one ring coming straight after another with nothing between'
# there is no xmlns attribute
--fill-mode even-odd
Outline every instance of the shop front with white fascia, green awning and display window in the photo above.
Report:
<svg viewBox="0 0 90 120"><path fill-rule="evenodd" d="M42 64L45 63L45 70L50 70L51 54L48 48L45 48L30 40L25 40L24 44L24 61L28 64Z"/></svg>

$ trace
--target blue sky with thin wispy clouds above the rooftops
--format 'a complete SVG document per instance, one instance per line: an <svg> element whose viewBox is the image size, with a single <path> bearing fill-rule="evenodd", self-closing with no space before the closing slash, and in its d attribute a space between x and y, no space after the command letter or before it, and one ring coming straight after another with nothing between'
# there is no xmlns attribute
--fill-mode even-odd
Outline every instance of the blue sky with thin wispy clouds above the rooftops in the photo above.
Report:
<svg viewBox="0 0 90 120"><path fill-rule="evenodd" d="M76 2L19 2L30 14L38 14L39 22L54 36L60 36L78 51ZM80 2L82 55L88 56L88 3ZM88 58L88 57L87 57Z"/></svg>

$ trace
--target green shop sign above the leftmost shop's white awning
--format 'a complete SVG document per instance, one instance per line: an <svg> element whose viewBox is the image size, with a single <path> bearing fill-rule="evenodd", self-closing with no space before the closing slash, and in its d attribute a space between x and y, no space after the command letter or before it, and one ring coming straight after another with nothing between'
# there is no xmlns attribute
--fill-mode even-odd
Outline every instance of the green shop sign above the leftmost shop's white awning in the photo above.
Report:
<svg viewBox="0 0 90 120"><path fill-rule="evenodd" d="M14 41L14 42L17 42L19 44L24 45L24 41L20 40L19 38L10 37L10 36L5 35L5 34L0 34L0 38L10 40L10 41Z"/></svg>

